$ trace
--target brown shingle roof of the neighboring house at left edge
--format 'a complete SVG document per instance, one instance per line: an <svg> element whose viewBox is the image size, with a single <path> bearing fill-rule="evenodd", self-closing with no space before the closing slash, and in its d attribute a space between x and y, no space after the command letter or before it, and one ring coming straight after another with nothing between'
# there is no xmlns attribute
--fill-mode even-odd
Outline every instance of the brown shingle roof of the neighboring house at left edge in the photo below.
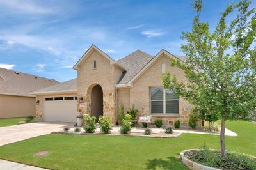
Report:
<svg viewBox="0 0 256 170"><path fill-rule="evenodd" d="M7 95L29 95L32 91L58 84L58 81L28 73L0 68L0 93Z"/></svg>

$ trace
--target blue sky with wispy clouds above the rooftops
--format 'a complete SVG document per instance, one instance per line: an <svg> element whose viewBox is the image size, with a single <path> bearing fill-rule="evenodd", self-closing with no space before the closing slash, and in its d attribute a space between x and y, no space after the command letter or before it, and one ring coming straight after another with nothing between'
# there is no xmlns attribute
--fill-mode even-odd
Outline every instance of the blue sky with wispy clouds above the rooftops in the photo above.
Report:
<svg viewBox="0 0 256 170"><path fill-rule="evenodd" d="M212 29L227 2L204 1ZM63 82L77 76L71 67L92 44L116 60L138 49L182 55L180 35L195 15L189 3L0 0L0 66Z"/></svg>

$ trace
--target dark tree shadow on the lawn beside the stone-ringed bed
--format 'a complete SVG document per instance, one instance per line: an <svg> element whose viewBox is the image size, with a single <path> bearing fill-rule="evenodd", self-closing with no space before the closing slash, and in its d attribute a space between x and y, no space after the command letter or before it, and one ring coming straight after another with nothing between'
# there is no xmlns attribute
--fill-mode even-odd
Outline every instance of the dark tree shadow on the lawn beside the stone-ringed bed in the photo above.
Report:
<svg viewBox="0 0 256 170"><path fill-rule="evenodd" d="M168 160L163 158L148 160L145 169L186 169L180 162L179 158L167 157Z"/></svg>

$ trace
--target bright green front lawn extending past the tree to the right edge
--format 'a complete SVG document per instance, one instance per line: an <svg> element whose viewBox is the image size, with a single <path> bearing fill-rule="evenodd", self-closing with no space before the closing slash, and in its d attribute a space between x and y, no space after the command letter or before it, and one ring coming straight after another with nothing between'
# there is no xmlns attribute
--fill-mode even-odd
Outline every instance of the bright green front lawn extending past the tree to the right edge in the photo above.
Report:
<svg viewBox="0 0 256 170"><path fill-rule="evenodd" d="M226 137L227 150L256 156L256 124L227 122L238 137ZM177 138L106 135L43 135L0 147L0 158L51 169L186 169L179 153L189 148L220 149L216 135L182 134ZM38 151L49 155L35 157Z"/></svg>

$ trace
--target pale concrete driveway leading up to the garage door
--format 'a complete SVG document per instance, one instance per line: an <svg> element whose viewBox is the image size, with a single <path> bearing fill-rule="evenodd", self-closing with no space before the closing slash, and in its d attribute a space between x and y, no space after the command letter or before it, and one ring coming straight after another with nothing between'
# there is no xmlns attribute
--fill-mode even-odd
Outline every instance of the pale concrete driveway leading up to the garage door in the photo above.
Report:
<svg viewBox="0 0 256 170"><path fill-rule="evenodd" d="M0 146L60 131L72 123L36 122L0 128Z"/></svg>

